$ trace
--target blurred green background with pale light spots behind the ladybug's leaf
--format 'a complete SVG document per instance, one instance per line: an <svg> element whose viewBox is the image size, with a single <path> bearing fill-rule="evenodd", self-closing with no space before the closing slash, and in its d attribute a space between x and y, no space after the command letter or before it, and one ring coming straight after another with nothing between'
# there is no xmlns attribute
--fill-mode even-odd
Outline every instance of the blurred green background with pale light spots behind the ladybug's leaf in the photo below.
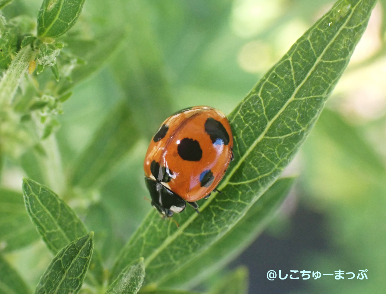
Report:
<svg viewBox="0 0 386 294"><path fill-rule="evenodd" d="M230 113L332 4L328 0L86 0L74 31L102 43L105 37L100 36L107 31L122 31L125 37L108 62L73 89L73 96L63 104L64 113L58 115L61 126L56 137L64 173L71 175L73 166L87 162L81 160L82 154L91 150L105 121L125 107L134 118L136 131L126 138L131 148L114 151L120 156L115 160L112 155L111 166L104 168L108 172L95 176L92 185L80 182L74 191L79 197L68 199L99 236L97 246L107 265L152 209L143 199L148 193L142 162L158 125L188 106L209 105ZM20 13L36 17L40 5L41 0L15 0L3 12L9 18ZM386 1L379 1L327 108L284 172L298 174L298 181L263 241L258 239L247 255L232 263L249 260L253 265L250 293L384 292L385 12ZM7 159L2 187L21 191L21 178L27 173L20 162ZM78 183L76 175L67 180ZM265 254L267 248L277 252ZM42 241L6 256L31 286L51 259ZM369 279L268 281L266 272L271 269L355 273L367 269Z"/></svg>

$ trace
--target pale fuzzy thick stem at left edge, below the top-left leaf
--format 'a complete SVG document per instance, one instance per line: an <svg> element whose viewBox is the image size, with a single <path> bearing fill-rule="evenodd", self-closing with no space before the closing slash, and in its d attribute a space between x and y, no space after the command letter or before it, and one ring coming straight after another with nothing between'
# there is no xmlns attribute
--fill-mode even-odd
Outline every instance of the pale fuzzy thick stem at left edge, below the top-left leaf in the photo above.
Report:
<svg viewBox="0 0 386 294"><path fill-rule="evenodd" d="M31 46L25 46L17 53L16 58L12 60L10 67L0 81L0 106L12 103L20 80L35 54Z"/></svg>

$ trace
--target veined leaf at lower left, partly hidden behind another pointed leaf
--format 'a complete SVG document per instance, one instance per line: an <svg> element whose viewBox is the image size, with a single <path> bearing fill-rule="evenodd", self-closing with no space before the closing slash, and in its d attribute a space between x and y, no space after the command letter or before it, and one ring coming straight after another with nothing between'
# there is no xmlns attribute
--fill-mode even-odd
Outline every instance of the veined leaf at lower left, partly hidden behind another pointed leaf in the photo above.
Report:
<svg viewBox="0 0 386 294"><path fill-rule="evenodd" d="M24 178L23 193L27 212L53 254L87 232L73 210L46 186ZM102 284L103 268L97 252L91 261L90 272Z"/></svg>

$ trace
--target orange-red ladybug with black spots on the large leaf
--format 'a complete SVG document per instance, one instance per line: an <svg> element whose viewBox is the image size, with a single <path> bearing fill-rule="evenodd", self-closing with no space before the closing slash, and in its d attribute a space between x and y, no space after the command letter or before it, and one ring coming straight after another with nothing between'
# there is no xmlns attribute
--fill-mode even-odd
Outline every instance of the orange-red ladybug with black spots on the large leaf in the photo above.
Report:
<svg viewBox="0 0 386 294"><path fill-rule="evenodd" d="M233 160L233 136L222 111L195 106L174 113L154 135L144 161L151 204L170 218L186 202L209 197Z"/></svg>

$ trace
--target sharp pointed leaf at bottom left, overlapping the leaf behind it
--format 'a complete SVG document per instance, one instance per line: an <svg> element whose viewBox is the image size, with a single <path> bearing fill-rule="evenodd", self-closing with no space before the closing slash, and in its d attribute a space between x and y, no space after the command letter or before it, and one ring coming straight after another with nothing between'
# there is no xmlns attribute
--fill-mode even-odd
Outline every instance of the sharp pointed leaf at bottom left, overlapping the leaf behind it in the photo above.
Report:
<svg viewBox="0 0 386 294"><path fill-rule="evenodd" d="M93 236L90 232L59 251L40 278L35 294L77 294L90 265Z"/></svg>

